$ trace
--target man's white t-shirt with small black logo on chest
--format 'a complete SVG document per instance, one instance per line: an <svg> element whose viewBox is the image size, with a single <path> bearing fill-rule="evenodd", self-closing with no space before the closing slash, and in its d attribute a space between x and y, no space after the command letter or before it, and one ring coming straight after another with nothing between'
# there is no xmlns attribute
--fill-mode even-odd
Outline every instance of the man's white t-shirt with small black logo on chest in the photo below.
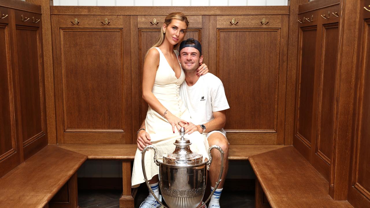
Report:
<svg viewBox="0 0 370 208"><path fill-rule="evenodd" d="M180 95L195 125L213 120L213 112L230 108L222 81L211 73L199 77L191 87L184 81L180 85ZM225 130L219 131L226 135Z"/></svg>

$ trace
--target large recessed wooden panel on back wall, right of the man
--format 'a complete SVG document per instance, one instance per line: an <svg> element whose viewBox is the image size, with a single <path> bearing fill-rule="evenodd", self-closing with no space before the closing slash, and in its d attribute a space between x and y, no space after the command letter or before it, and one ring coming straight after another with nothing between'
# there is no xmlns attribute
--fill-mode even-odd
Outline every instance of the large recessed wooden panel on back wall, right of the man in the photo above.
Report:
<svg viewBox="0 0 370 208"><path fill-rule="evenodd" d="M225 126L229 141L276 144L276 132L284 128L277 125L281 30L230 28L218 29L217 35L216 76L231 107ZM263 140L254 141L256 134Z"/></svg>

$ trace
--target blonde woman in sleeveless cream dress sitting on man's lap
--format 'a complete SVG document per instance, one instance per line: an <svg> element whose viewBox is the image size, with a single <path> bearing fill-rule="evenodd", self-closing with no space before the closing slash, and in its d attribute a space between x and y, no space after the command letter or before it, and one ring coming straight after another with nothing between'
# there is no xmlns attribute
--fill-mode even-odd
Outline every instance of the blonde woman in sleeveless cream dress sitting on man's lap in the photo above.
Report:
<svg viewBox="0 0 370 208"><path fill-rule="evenodd" d="M173 143L179 138L178 130L184 124L189 124L190 114L182 103L179 95L179 87L185 80L178 61L178 51L174 48L185 36L188 20L183 13L171 13L165 18L161 28L161 36L157 43L149 49L144 61L142 93L144 100L149 104L147 117L145 119L146 131L151 137L151 142L158 150L158 158L162 154L172 152L175 148ZM206 66L201 67L204 72ZM191 150L208 157L208 142L204 135L199 132L186 134L192 142ZM150 152L150 153L149 153ZM145 170L147 177L151 178L151 185L155 195L162 200L158 188L158 166L153 162L154 151L148 151L145 155ZM141 151L135 154L134 167L132 171L131 184L137 187L144 182L141 167ZM155 201L152 194L140 205L141 208L157 208L161 205Z"/></svg>

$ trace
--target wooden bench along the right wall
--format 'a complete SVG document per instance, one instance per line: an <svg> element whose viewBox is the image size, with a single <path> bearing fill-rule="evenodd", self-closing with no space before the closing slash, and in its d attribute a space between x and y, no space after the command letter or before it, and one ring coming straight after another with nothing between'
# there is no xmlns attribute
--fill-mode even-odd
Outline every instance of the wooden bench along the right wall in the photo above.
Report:
<svg viewBox="0 0 370 208"><path fill-rule="evenodd" d="M253 155L249 162L273 208L352 208L329 196L329 182L293 146Z"/></svg>

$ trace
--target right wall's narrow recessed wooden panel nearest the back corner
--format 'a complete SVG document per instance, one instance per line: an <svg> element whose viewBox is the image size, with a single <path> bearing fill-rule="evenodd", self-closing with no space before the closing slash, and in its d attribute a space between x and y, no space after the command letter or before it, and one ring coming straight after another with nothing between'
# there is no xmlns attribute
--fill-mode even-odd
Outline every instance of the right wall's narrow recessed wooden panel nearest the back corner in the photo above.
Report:
<svg viewBox="0 0 370 208"><path fill-rule="evenodd" d="M302 148L311 148L312 142L312 114L313 114L313 88L316 55L317 27L301 28L299 40L299 68L296 101L296 133L293 144L302 142ZM305 155L309 158L308 155ZM310 161L310 160L309 160Z"/></svg>

